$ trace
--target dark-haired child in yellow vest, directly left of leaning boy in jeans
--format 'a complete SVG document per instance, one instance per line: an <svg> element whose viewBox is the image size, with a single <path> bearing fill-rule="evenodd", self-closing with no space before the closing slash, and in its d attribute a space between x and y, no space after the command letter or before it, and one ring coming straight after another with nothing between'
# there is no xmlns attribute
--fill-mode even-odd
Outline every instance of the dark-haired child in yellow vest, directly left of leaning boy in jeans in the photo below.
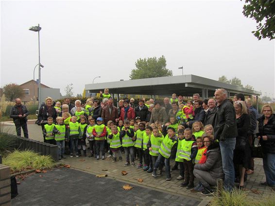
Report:
<svg viewBox="0 0 275 206"><path fill-rule="evenodd" d="M149 154L151 155L151 159L152 159L152 168L155 168L155 162L156 162L156 159L159 154L158 150L160 148L160 145L161 145L163 139L164 139L163 135L160 133L158 128L155 127L153 129L153 134L151 135L151 137L147 143L147 148L149 149ZM162 165L161 164L159 164L158 171L159 172L157 173L157 175L160 175L162 173Z"/></svg>

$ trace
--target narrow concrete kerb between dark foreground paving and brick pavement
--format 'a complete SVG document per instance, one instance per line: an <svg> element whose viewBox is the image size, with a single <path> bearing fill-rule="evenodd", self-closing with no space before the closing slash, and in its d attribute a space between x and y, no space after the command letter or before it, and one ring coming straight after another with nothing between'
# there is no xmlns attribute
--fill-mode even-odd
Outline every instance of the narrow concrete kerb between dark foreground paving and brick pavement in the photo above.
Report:
<svg viewBox="0 0 275 206"><path fill-rule="evenodd" d="M73 169L73 170L77 170L77 171L81 171L81 172L86 172L86 173L90 173L90 174L94 174L94 175L97 175L97 174L102 174L102 173L97 173L97 172L90 172L90 171L86 171L86 170L82 170L82 169L79 169L79 168L75 168L75 167L70 167L70 169ZM104 172L104 171L103 171ZM106 173L106 172L105 172ZM107 173L106 173L107 174ZM190 198L190 196L187 196L187 195L184 195L184 194L178 194L178 193L173 193L171 191L167 191L167 190L163 190L163 189L157 189L157 188L154 188L154 187L150 187L150 186L145 186L145 185L142 185L142 184L138 184L136 182L132 182L132 181L125 181L123 179L120 179L120 178L117 178L117 177L111 177L111 176L107 176L107 177L101 177L101 178L108 178L108 179L113 179L113 180L117 180L117 181L120 181L120 182L124 182L124 183L128 183L128 184L131 184L131 185L134 185L134 186L138 186L138 187L142 187L142 188L146 188L146 189L152 189L152 190L155 190L155 191L159 191L159 192L164 192L164 193L167 193L167 194L171 194L171 195L175 195L175 196L178 196L178 197L186 197L186 198ZM191 197L191 198L194 198L198 201L203 201L204 199L201 199L201 198L197 198L197 197ZM207 202L207 204L209 203L209 201ZM200 203L201 204L201 203ZM200 205L199 204L199 205ZM200 206L207 206L206 205L200 205Z"/></svg>

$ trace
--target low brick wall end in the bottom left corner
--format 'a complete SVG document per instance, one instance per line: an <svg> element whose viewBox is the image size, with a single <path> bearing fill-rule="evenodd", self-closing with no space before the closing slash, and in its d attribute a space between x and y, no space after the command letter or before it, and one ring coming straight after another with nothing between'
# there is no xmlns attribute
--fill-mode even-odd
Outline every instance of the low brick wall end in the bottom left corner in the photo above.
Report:
<svg viewBox="0 0 275 206"><path fill-rule="evenodd" d="M10 167L0 164L0 206L11 206Z"/></svg>

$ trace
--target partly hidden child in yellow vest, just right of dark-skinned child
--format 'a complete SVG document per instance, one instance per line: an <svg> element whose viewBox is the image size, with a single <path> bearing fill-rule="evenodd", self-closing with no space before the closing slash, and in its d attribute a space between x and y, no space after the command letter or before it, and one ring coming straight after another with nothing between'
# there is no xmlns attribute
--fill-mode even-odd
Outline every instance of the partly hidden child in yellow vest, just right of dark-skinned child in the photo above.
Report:
<svg viewBox="0 0 275 206"><path fill-rule="evenodd" d="M147 172L153 172L152 158L150 158L149 149L147 148L147 143L151 138L152 132L153 132L153 128L150 126L147 126L145 128L145 133L143 134L143 140L142 140L142 149L143 149L144 163L145 163L143 166L143 170Z"/></svg>

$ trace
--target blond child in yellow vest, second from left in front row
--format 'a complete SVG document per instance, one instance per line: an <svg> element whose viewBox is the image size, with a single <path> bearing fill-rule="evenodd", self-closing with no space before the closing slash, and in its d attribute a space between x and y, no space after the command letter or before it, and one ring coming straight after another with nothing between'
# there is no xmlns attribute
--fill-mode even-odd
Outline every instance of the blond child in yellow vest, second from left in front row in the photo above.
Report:
<svg viewBox="0 0 275 206"><path fill-rule="evenodd" d="M64 156L65 139L68 139L68 129L63 123L62 117L56 118L57 124L53 126L52 132L55 134L56 145L58 146L58 159L66 159Z"/></svg>

